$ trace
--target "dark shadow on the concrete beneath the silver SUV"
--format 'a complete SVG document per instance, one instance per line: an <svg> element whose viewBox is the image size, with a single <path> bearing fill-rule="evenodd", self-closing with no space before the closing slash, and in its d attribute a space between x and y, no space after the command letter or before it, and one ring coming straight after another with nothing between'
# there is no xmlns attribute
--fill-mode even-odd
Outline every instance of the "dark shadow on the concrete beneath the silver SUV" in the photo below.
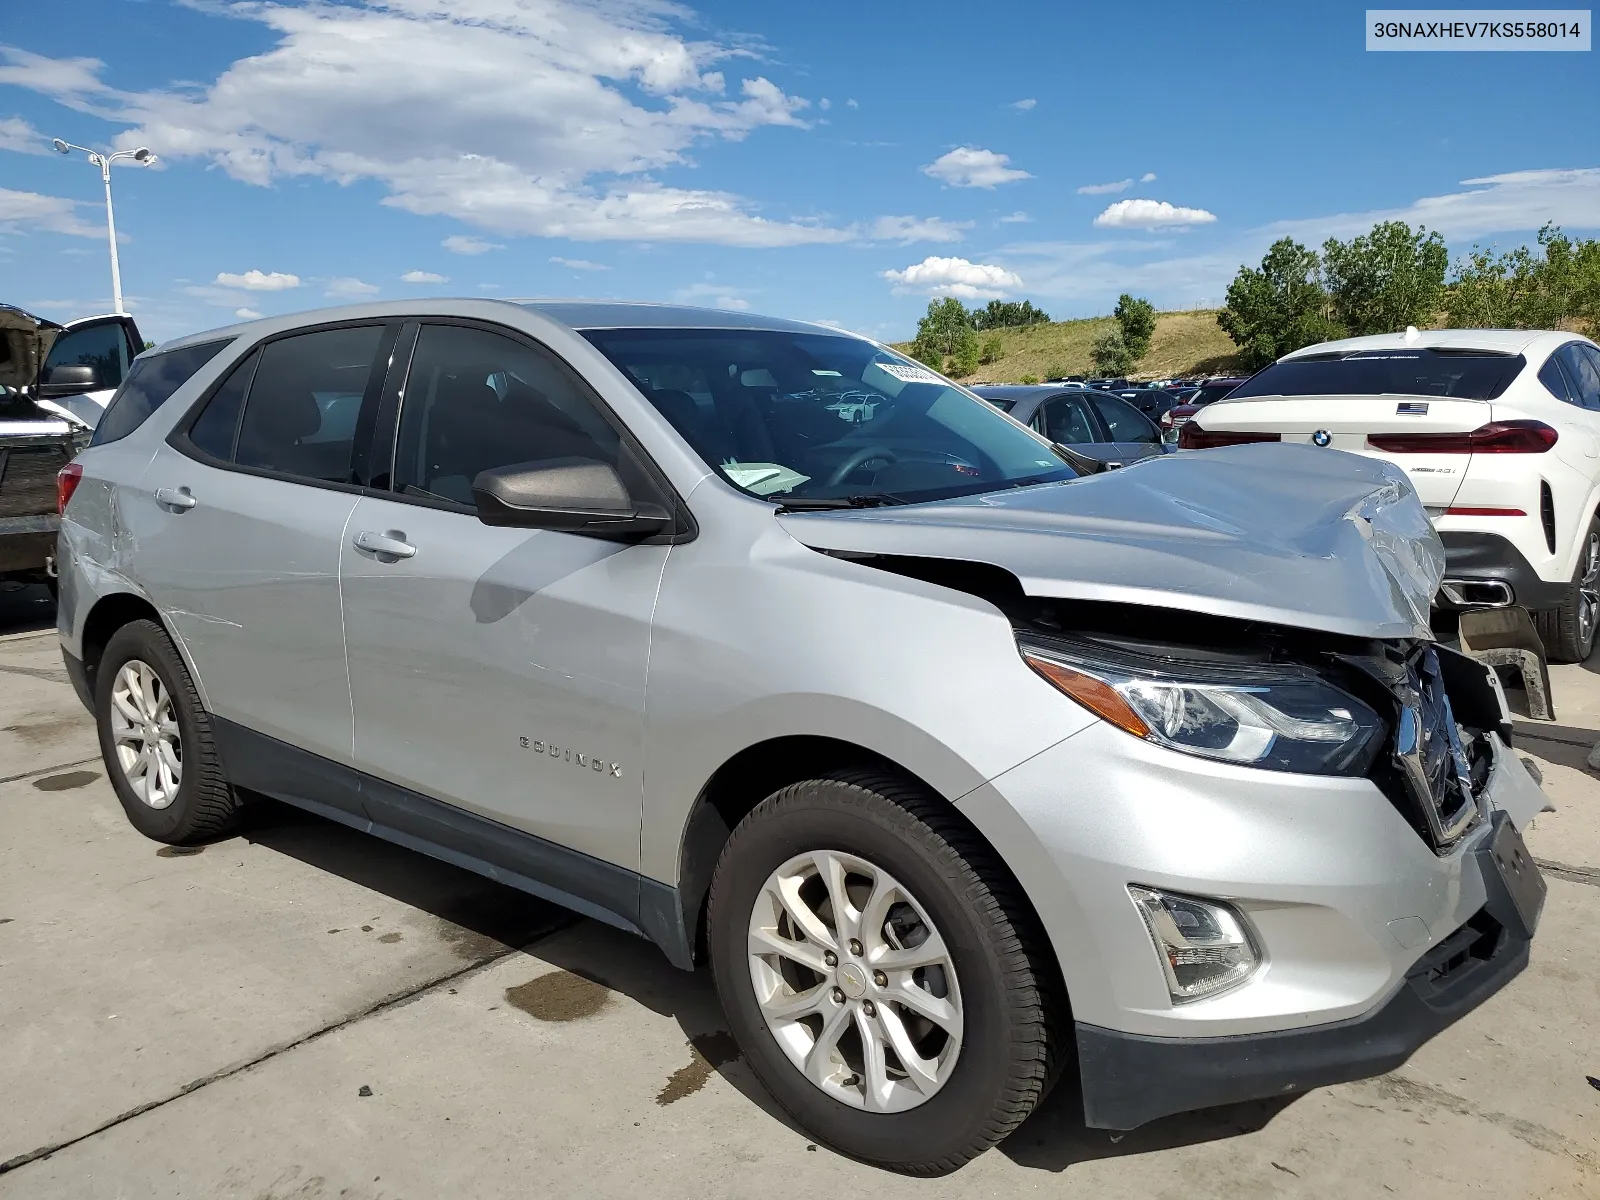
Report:
<svg viewBox="0 0 1600 1200"><path fill-rule="evenodd" d="M739 1056L706 968L680 971L642 938L286 805L256 805L243 837L432 914L440 936L467 962L488 962L507 949L536 954L558 974L530 978L510 989L517 995L507 995L534 1019L584 1019L611 994L672 1018L683 1030L688 1066L661 1082L658 1104L691 1094L715 1070L768 1117L802 1133ZM1083 1099L1069 1066L1061 1085L998 1152L1019 1166L1064 1171L1080 1162L1253 1133L1288 1102L1235 1104L1112 1134L1083 1125Z"/></svg>

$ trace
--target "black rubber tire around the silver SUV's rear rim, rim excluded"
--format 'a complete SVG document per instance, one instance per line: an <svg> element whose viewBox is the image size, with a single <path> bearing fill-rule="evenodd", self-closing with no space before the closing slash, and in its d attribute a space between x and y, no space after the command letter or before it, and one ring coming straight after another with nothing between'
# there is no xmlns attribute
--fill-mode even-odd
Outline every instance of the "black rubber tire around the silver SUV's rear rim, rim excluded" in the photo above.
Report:
<svg viewBox="0 0 1600 1200"><path fill-rule="evenodd" d="M138 659L160 680L171 698L178 722L182 771L176 797L166 808L152 808L128 782L117 757L110 709L117 672ZM94 723L99 726L106 776L122 802L128 821L149 838L170 845L203 842L227 832L238 818L240 803L222 776L222 763L211 734L211 718L200 706L200 693L173 640L154 621L130 621L112 634L94 672Z"/></svg>

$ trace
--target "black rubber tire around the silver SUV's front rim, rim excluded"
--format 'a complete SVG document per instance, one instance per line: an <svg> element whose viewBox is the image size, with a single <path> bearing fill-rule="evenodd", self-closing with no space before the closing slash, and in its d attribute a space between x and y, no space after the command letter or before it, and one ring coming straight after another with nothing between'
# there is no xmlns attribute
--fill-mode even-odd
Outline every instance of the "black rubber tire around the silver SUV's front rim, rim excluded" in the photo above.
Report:
<svg viewBox="0 0 1600 1200"><path fill-rule="evenodd" d="M768 1030L747 930L766 878L808 850L835 850L910 888L944 938L963 1032L947 1082L904 1112L853 1107L811 1083ZM845 773L770 795L733 830L712 878L707 938L723 1011L746 1061L810 1136L906 1174L944 1174L1005 1138L1054 1082L1056 966L994 851L942 802L880 773Z"/></svg>

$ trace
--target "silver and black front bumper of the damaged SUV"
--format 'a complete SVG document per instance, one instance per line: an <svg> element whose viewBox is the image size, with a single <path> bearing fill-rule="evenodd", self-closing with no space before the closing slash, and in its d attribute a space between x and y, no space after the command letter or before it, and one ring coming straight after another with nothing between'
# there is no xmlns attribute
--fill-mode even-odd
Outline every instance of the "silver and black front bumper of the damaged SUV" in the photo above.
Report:
<svg viewBox="0 0 1600 1200"><path fill-rule="evenodd" d="M1371 781L1213 763L1096 723L958 806L1056 950L1090 1123L1131 1128L1389 1070L1522 970L1528 939L1504 931L1470 986L1418 994L1464 928L1499 920L1482 853L1544 803L1498 738L1485 800L1491 819L1434 853ZM1128 883L1230 902L1262 965L1174 1005Z"/></svg>

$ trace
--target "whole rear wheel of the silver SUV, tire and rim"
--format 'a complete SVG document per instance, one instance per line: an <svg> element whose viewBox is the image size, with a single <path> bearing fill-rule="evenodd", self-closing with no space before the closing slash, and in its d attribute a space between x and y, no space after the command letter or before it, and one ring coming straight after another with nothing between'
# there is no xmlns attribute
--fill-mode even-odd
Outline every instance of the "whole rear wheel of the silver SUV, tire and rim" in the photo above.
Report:
<svg viewBox="0 0 1600 1200"><path fill-rule="evenodd" d="M166 630L130 621L94 672L101 757L128 821L157 842L227 830L238 800L222 778L211 718Z"/></svg>

